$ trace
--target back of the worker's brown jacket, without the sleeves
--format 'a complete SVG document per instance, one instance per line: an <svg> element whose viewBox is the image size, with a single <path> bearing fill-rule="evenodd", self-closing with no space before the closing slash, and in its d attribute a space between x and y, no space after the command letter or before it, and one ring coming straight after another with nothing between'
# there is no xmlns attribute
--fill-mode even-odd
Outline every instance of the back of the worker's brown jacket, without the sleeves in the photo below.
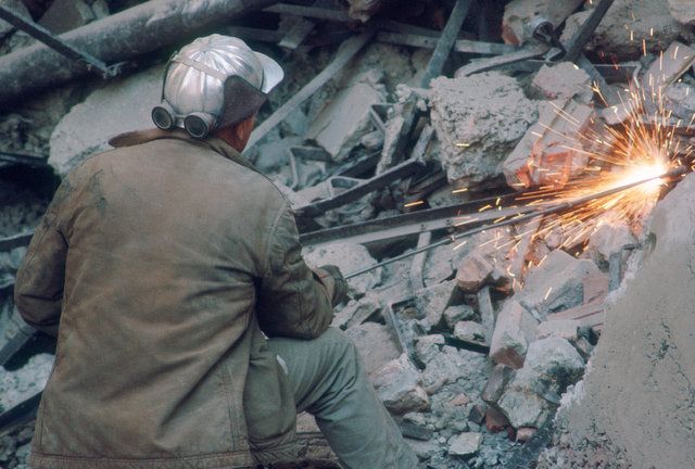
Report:
<svg viewBox="0 0 695 469"><path fill-rule="evenodd" d="M189 139L117 149L76 168L45 219L63 240L42 242L63 241L66 256L35 454L250 464L244 332L283 206L263 176ZM56 249L27 259L21 306L33 301L22 286L37 284L26 277L50 271L52 259L40 257Z"/></svg>

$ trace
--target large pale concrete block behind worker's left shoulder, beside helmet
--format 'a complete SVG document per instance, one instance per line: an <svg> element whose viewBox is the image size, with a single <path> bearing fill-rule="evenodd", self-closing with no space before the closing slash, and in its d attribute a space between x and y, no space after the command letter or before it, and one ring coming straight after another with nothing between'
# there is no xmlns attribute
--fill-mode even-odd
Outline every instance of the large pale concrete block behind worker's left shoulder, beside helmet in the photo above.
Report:
<svg viewBox="0 0 695 469"><path fill-rule="evenodd" d="M51 135L48 162L55 173L64 176L88 156L109 149L108 140L118 134L154 127L150 114L160 103L163 73L164 65L156 65L116 78L75 105Z"/></svg>

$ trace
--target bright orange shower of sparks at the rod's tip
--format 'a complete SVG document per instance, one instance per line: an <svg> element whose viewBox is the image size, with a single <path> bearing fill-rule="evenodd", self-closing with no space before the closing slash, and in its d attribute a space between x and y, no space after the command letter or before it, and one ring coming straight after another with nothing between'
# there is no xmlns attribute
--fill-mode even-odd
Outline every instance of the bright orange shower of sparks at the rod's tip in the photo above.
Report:
<svg viewBox="0 0 695 469"><path fill-rule="evenodd" d="M632 38L632 31L630 34ZM642 47L646 53L644 39ZM678 50L673 52L673 59L677 55ZM578 255L589 237L604 225L627 224L639 232L659 199L664 186L670 182L659 176L678 166L693 164L695 149L688 140L679 137L675 130L688 134L695 122L695 114L687 123L671 115L664 97L665 88L669 85L665 83L666 77L661 73L664 54L656 60L661 68L659 74L644 77L644 83L633 80L624 93L620 93L621 103L608 109L608 112L614 112L617 116L627 116L622 124L609 126L601 124L594 117L592 126L580 129L577 119L563 109L556 107L556 114L574 129L564 148L574 154L586 155L586 165L582 174L569 178L566 183L548 183L534 188L518 195L515 203L526 208L543 210L601 194L632 182L650 178L653 180L593 199L566 212L547 215L540 223L536 218L536 221L519 224L515 230L516 234L492 240L496 249L507 252L507 259L526 255L518 253L519 245L528 246L539 239L544 240L549 249L572 250L572 253ZM605 101L596 85L592 89ZM547 131L553 129L547 128ZM694 170L695 167L687 169ZM554 167L540 167L538 170L546 176L561 173L561 169ZM497 199L494 205L488 204L478 212L493 208L502 210L501 199ZM507 223L514 218L511 215L501 216L494 223ZM462 218L457 226L466 225L473 219ZM542 264L545 257L528 264L523 259L517 263L520 269L509 271L515 287L520 284L517 277L522 270L527 270L531 265Z"/></svg>

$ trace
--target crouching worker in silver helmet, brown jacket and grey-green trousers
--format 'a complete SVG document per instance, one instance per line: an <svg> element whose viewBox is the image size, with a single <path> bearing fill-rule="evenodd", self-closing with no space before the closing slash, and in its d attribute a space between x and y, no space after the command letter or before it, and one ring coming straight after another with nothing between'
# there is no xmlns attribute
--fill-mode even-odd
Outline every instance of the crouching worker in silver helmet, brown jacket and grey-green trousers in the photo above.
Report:
<svg viewBox="0 0 695 469"><path fill-rule="evenodd" d="M307 267L288 201L239 153L282 75L240 39L197 39L166 66L159 128L63 180L14 291L58 335L34 468L292 467L304 410L343 467L416 467L329 328L340 270Z"/></svg>

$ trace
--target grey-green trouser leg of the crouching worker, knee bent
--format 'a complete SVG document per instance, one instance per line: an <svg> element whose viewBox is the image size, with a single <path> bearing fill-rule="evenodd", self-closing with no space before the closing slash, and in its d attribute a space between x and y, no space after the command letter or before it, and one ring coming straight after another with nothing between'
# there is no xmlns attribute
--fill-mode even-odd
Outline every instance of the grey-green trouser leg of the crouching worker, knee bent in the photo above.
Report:
<svg viewBox="0 0 695 469"><path fill-rule="evenodd" d="M296 411L308 411L345 469L414 469L417 457L377 396L353 342L330 328L311 341L274 338Z"/></svg>

